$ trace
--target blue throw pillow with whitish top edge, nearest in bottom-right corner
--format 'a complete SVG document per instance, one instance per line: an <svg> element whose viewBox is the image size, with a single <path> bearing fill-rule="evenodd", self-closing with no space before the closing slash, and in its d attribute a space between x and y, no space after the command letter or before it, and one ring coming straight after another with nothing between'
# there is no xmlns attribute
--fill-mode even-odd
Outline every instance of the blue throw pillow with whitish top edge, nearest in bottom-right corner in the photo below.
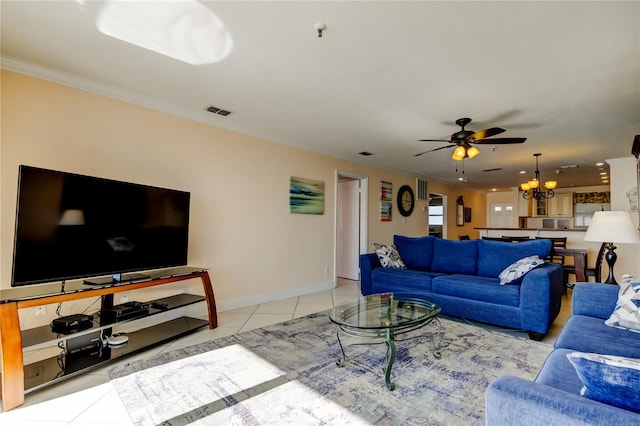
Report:
<svg viewBox="0 0 640 426"><path fill-rule="evenodd" d="M580 395L640 413L640 359L584 352L567 358L584 385Z"/></svg>

